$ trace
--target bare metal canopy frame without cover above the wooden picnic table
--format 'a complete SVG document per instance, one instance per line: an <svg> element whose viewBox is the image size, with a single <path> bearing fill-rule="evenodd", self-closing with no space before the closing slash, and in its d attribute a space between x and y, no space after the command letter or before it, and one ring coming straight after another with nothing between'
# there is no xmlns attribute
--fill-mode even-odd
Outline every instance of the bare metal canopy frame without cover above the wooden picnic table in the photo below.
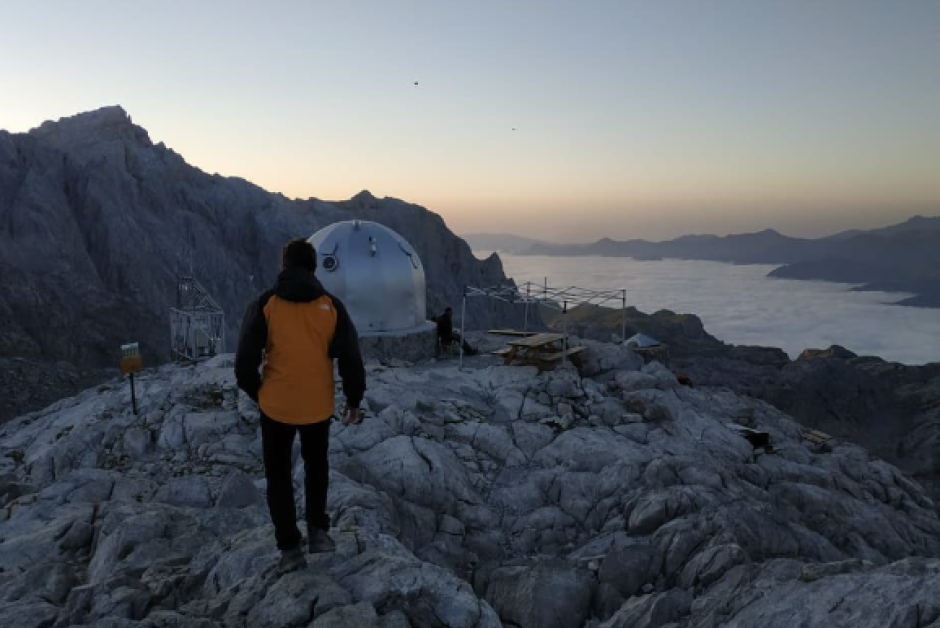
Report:
<svg viewBox="0 0 940 628"><path fill-rule="evenodd" d="M627 291L592 290L580 286L555 288L548 285L548 278L542 284L527 281L519 286L514 284L489 287L465 286L463 302L460 307L460 337L465 337L467 324L467 299L484 297L504 303L525 305L523 331L529 331L529 306L547 307L562 313L565 338L568 337L568 306L601 306L611 301L620 301L620 338L627 339ZM567 342L567 341L566 341ZM564 358L562 358L564 360ZM463 365L463 343L460 347L460 364Z"/></svg>

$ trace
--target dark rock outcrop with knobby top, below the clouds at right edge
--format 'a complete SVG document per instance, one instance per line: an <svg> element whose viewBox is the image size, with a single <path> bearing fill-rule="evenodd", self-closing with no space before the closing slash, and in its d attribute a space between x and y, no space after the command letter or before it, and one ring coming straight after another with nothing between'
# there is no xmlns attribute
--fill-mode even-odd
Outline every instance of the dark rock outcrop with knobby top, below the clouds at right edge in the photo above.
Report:
<svg viewBox="0 0 940 628"><path fill-rule="evenodd" d="M730 354L676 360L675 368L696 385L763 399L808 427L859 443L940 500L940 363L908 366L830 347L783 365Z"/></svg>

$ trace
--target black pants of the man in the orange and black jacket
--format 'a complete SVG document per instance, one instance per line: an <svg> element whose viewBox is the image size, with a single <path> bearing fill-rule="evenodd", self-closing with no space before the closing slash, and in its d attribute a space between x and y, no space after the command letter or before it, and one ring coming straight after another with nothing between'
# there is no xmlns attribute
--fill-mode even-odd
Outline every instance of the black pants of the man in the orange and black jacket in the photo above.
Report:
<svg viewBox="0 0 940 628"><path fill-rule="evenodd" d="M297 510L294 507L291 450L294 434L300 432L300 454L304 459L307 529L330 529L326 514L326 492L330 484L330 420L310 425L280 423L261 414L261 446L264 451L264 476L268 480L268 509L274 523L277 548L290 549L300 544Z"/></svg>

